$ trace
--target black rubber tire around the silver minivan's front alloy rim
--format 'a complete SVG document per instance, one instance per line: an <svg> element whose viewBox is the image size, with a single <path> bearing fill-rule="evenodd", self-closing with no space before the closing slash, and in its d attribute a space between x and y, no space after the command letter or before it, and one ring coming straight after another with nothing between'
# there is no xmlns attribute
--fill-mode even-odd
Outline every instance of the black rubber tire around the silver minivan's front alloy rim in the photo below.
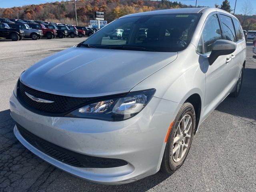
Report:
<svg viewBox="0 0 256 192"><path fill-rule="evenodd" d="M178 135L176 135L176 132L178 130L178 126L179 125L182 126L181 120L184 116L191 118L191 126L192 127L190 127L191 130L189 129L190 139L187 140L188 147L186 148L184 155L182 156L182 158L180 158L180 160L178 162L175 162L174 156L172 155L173 143L174 143L174 138L178 136ZM180 168L180 166L182 166L182 164L184 163L184 161L188 155L192 140L194 138L195 127L196 127L196 115L195 115L194 107L191 103L186 102L181 106L181 108L174 120L174 123L172 124L172 128L170 130L168 140L166 142L164 156L162 158L162 163L161 163L161 167L160 167L162 172L167 173L167 174L173 174L176 170L178 170ZM181 135L182 136L181 136L180 140L178 140L178 142L176 142L179 145L181 145L181 144L183 145L183 140L185 141L185 139L188 139L185 137L186 134L184 134L185 136L183 134L181 134ZM176 147L176 145L175 145L175 147ZM180 150L177 150L177 151L180 151ZM176 154L176 152L174 154Z"/></svg>

